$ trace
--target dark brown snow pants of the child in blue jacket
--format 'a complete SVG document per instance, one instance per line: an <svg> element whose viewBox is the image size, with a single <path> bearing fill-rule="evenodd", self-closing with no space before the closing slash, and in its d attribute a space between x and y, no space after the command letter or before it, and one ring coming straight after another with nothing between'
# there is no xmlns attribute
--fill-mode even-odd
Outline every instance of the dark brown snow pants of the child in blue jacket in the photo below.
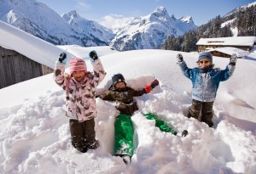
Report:
<svg viewBox="0 0 256 174"><path fill-rule="evenodd" d="M192 105L189 109L188 117L193 117L199 120L199 115L201 112L201 121L207 123L209 127L213 126L212 116L213 116L213 102L201 102L192 99Z"/></svg>

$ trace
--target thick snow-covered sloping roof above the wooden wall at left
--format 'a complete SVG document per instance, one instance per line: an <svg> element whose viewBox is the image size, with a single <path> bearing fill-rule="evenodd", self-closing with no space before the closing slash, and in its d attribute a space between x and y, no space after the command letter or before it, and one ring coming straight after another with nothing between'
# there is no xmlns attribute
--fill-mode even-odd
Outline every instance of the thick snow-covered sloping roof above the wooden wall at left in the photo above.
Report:
<svg viewBox="0 0 256 174"><path fill-rule="evenodd" d="M0 21L0 36L1 47L15 50L27 58L50 68L54 68L57 56L63 52L63 49L3 21ZM70 53L67 53L67 55L73 56Z"/></svg>

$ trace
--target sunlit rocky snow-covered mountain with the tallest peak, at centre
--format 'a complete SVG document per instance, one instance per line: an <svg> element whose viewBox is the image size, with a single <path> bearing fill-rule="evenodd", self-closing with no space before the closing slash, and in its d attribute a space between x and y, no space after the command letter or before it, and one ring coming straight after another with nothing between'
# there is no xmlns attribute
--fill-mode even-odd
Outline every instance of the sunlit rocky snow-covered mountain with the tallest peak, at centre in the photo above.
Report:
<svg viewBox="0 0 256 174"><path fill-rule="evenodd" d="M116 36L111 45L121 51L160 48L168 36L180 36L196 28L190 16L177 20L166 8L159 7L147 16L119 21L113 26Z"/></svg>

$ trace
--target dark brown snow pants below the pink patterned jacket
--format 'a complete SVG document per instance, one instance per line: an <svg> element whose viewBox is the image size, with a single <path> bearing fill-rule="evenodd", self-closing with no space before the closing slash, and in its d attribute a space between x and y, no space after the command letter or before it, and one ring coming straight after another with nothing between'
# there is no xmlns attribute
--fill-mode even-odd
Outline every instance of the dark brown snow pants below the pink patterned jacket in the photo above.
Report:
<svg viewBox="0 0 256 174"><path fill-rule="evenodd" d="M90 119L88 121L79 122L77 120L69 120L69 128L71 133L71 143L75 149L85 153L88 149L96 149L96 132L95 121Z"/></svg>

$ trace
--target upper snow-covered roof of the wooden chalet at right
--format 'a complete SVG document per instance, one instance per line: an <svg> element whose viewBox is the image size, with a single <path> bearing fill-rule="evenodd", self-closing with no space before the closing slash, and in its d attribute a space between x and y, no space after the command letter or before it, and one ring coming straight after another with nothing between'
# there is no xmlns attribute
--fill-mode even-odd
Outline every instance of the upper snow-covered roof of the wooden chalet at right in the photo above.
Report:
<svg viewBox="0 0 256 174"><path fill-rule="evenodd" d="M226 45L226 46L250 46L253 47L256 36L231 36L218 38L201 38L196 45Z"/></svg>

